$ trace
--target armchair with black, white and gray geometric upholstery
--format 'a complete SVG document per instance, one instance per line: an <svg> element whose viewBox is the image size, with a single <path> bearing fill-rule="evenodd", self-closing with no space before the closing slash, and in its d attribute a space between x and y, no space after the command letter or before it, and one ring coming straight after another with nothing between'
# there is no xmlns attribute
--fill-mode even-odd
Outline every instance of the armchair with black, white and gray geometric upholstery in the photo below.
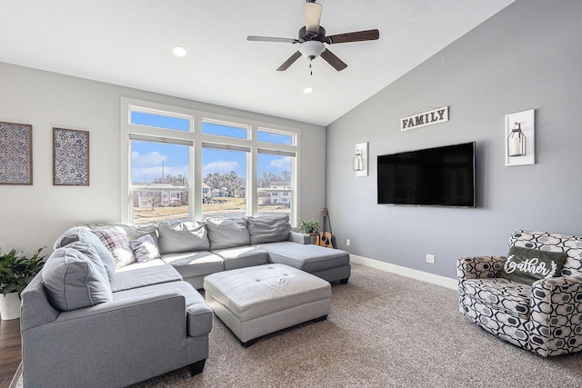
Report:
<svg viewBox="0 0 582 388"><path fill-rule="evenodd" d="M582 237L527 232L509 246L566 252L559 277L520 284L499 277L505 256L462 257L459 311L487 332L544 357L582 350Z"/></svg>

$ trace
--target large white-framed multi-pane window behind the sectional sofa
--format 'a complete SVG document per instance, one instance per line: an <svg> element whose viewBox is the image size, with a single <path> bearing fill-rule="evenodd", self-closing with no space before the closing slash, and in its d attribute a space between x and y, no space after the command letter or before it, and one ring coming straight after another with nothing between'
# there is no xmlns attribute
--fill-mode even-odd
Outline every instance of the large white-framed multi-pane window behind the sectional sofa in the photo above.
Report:
<svg viewBox="0 0 582 388"><path fill-rule="evenodd" d="M121 111L122 222L284 213L296 225L299 130L125 97Z"/></svg>

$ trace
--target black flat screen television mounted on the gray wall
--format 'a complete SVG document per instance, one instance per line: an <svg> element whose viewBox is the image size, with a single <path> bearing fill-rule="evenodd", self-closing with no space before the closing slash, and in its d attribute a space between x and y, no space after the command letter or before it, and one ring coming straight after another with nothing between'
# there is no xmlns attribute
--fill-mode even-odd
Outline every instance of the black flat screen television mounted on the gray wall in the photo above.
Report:
<svg viewBox="0 0 582 388"><path fill-rule="evenodd" d="M475 142L378 156L378 204L475 207Z"/></svg>

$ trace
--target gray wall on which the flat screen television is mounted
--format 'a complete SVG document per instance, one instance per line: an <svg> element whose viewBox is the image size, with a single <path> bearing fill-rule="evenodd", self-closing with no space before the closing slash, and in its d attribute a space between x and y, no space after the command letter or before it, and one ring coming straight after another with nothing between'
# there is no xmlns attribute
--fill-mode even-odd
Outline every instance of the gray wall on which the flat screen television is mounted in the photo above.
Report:
<svg viewBox="0 0 582 388"><path fill-rule="evenodd" d="M506 254L518 228L582 235L580 20L577 0L518 0L330 124L326 205L338 247L454 278L458 257ZM400 118L444 105L449 122L400 132ZM528 109L536 164L506 167L505 115ZM376 204L377 155L471 141L476 209ZM366 177L351 171L360 142Z"/></svg>

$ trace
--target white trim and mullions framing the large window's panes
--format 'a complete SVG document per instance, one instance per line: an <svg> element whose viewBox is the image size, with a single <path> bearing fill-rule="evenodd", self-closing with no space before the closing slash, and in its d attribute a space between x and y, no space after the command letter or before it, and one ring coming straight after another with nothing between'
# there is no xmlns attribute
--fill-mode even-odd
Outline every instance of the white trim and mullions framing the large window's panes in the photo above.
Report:
<svg viewBox="0 0 582 388"><path fill-rule="evenodd" d="M190 131L179 131L167 128L150 127L142 124L130 124L130 110L174 115L180 118L190 119ZM259 189L257 187L256 155L258 153L283 154L294 157L291 165L291 176L293 182L291 190L284 190L291 196L290 223L297 224L299 214L299 193L300 177L298 163L301 157L300 144L301 129L289 127L275 123L268 123L257 120L250 120L243 117L233 117L224 114L198 111L181 106L158 104L137 100L133 98L121 97L120 99L120 152L121 152L121 193L120 193L120 219L122 223L129 224L133 221L133 191L129 179L131 176L131 141L149 140L164 141L167 143L186 144L190 147L190 166L188 171L190 185L185 188L172 188L171 191L188 191L188 217L190 220L202 217L202 147L222 147L226 149L246 150L246 200L248 215L258 214L258 191L268 191L269 189ZM231 124L248 128L247 138L238 139L215 134L202 134L202 122L212 122L219 124ZM272 132L274 134L292 134L293 144L276 144L259 142L257 131ZM139 189L134 187L134 189ZM273 189L271 189L273 191Z"/></svg>

